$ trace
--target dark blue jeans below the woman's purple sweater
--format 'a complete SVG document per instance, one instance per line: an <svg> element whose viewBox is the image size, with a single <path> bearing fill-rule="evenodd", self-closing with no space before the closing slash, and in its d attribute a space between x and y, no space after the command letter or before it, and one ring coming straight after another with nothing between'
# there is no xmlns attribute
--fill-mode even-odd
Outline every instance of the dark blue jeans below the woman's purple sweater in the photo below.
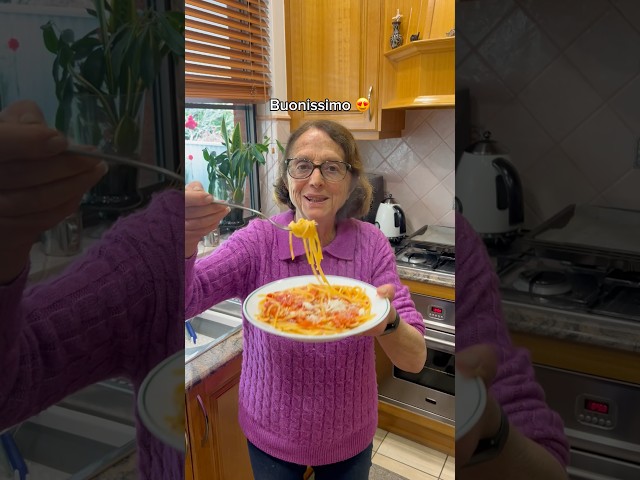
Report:
<svg viewBox="0 0 640 480"><path fill-rule="evenodd" d="M285 462L249 444L249 457L255 480L301 480L306 465ZM355 457L338 463L313 467L315 480L368 480L373 443Z"/></svg>

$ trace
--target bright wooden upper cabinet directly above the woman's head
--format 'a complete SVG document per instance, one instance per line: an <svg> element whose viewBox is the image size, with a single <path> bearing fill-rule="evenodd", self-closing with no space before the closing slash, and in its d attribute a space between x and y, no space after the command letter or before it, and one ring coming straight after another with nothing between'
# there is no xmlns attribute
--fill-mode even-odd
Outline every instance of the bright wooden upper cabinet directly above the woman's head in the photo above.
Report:
<svg viewBox="0 0 640 480"><path fill-rule="evenodd" d="M289 111L291 130L312 119L334 120L357 139L400 137L404 111L382 110L383 0L285 0L289 101L350 102L341 112ZM356 100L370 97L369 110Z"/></svg>

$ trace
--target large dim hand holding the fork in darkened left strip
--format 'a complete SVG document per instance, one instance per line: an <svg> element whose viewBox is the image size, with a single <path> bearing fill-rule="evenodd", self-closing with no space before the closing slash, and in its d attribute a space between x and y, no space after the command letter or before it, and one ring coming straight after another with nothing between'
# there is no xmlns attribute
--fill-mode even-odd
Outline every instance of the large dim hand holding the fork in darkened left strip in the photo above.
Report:
<svg viewBox="0 0 640 480"><path fill-rule="evenodd" d="M66 148L35 103L0 112L0 284L20 274L40 233L77 210L107 172L100 161L61 155Z"/></svg>

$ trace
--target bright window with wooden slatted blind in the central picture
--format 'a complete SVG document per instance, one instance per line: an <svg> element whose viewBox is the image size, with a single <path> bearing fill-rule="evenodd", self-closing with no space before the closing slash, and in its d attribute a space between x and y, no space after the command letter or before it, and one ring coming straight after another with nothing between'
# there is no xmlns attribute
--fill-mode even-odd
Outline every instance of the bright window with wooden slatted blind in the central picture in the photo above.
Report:
<svg viewBox="0 0 640 480"><path fill-rule="evenodd" d="M269 98L267 0L185 0L185 174L209 189L202 155L222 151L221 121L256 141L254 104ZM260 208L258 171L245 204ZM212 189L215 186L212 187ZM248 200L249 199L249 200Z"/></svg>

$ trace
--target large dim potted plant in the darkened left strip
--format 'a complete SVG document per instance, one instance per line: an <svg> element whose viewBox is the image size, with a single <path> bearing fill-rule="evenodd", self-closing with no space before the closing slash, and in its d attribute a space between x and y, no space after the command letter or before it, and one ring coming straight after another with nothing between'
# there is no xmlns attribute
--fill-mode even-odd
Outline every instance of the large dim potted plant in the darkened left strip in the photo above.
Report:
<svg viewBox="0 0 640 480"><path fill-rule="evenodd" d="M55 55L55 125L76 141L136 157L145 93L165 58L184 56L184 15L136 10L134 0L94 0L94 6L87 12L98 27L82 38L69 29L58 33L52 22L42 26L44 45ZM113 167L94 190L118 202L127 196L122 188L137 196L135 169Z"/></svg>

